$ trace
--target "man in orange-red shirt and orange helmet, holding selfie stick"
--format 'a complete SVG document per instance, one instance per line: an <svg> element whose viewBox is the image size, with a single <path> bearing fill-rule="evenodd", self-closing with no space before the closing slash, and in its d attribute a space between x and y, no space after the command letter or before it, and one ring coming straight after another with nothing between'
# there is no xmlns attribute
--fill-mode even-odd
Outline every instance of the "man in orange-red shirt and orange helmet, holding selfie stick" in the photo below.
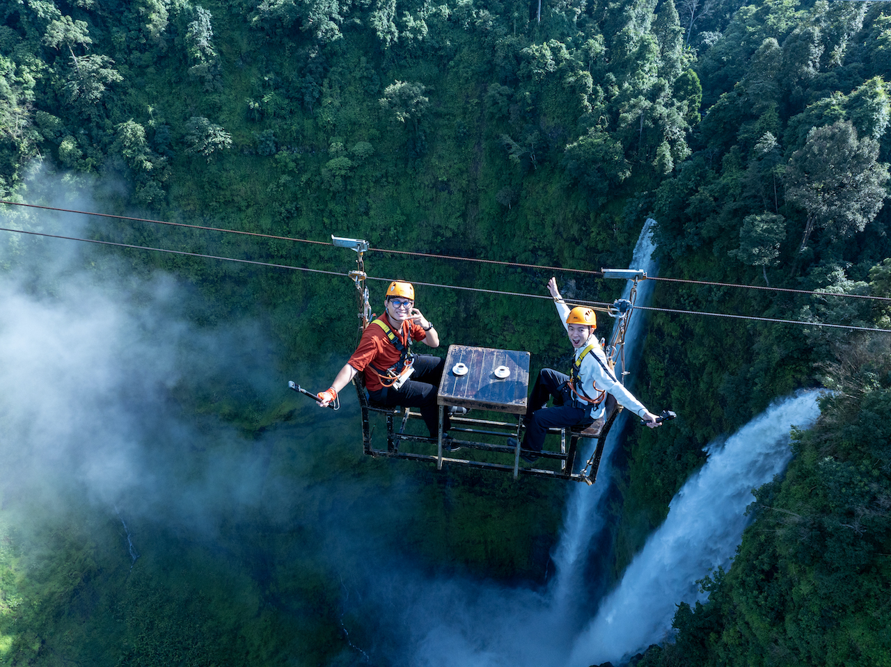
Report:
<svg viewBox="0 0 891 667"><path fill-rule="evenodd" d="M414 307L414 286L393 281L384 297L386 312L365 328L356 352L340 369L331 387L318 395L323 408L331 403L356 373L364 372L365 386L372 403L387 407L401 405L419 408L430 437L437 437L439 411L437 391L446 360L432 354L412 354L413 341L429 347L439 346L437 329ZM446 411L443 430L450 427Z"/></svg>

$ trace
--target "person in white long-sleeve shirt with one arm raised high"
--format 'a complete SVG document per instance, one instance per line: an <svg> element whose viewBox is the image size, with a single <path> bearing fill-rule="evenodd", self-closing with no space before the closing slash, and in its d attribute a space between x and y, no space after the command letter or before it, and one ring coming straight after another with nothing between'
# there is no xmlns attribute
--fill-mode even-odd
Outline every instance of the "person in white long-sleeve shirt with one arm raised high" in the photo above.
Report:
<svg viewBox="0 0 891 667"><path fill-rule="evenodd" d="M524 420L526 435L523 437L523 449L542 451L548 428L588 426L594 419L600 419L607 394L613 395L626 409L633 410L650 428L660 426L656 421L657 416L634 398L609 368L606 354L594 335L597 320L593 310L582 306L570 309L560 296L554 278L548 281L548 291L576 354L569 375L553 369L539 372ZM554 405L545 408L552 396Z"/></svg>

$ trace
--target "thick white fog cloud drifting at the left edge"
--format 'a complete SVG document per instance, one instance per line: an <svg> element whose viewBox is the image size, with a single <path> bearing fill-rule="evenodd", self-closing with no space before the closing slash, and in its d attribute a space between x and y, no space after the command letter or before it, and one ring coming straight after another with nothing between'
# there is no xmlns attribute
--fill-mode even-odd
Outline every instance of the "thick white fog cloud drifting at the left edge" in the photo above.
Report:
<svg viewBox="0 0 891 667"><path fill-rule="evenodd" d="M51 206L100 208L69 185L38 174L30 189ZM86 216L0 216L4 227L87 234ZM233 509L282 516L266 498L287 488L267 474L272 443L193 404L233 392L282 400L259 324L196 326L186 310L200 295L169 275L136 276L89 244L0 234L0 499L41 505L32 519L89 502L205 531Z"/></svg>

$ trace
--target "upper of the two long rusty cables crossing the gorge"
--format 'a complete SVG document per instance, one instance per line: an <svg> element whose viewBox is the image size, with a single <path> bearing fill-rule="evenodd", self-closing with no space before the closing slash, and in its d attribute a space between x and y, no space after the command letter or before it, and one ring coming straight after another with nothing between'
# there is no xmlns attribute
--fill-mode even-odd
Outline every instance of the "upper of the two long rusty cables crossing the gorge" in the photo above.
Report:
<svg viewBox="0 0 891 667"><path fill-rule="evenodd" d="M142 218L142 217L133 217L133 216L114 216L109 213L91 213L89 211L78 211L73 208L60 208L60 207L51 207L51 206L40 206L38 204L25 204L20 201L8 201L5 199L0 199L0 204L8 204L10 206L20 206L20 207L29 207L29 208L42 208L49 211L61 211L62 213L77 213L82 216L96 216L96 217L108 217L114 218L117 220L131 220L134 222L140 223L152 223L152 224L167 224L173 227L186 227L189 229L199 229L207 232L225 232L229 234L242 234L245 236L254 236L260 239L273 239L273 240L290 240L296 243L310 243L318 246L331 246L329 241L321 241L321 240L309 240L309 239L297 239L291 236L276 236L274 234L264 234L260 232L242 232L241 230L234 229L225 229L223 227L208 227L200 224L185 224L185 223L173 223L168 220L152 220L151 218ZM589 269L573 269L567 268L565 266L548 266L546 264L524 264L522 262L504 262L502 260L497 259L482 259L479 257L462 257L455 255L436 255L433 253L424 253L424 252L415 252L412 250L396 250L392 248L368 248L367 252L380 252L387 253L390 255L404 255L404 256L417 256L417 257L428 257L430 259L452 259L461 262L476 262L478 264L495 264L498 266L517 266L519 268L526 269L546 269L548 271L560 271L560 272L569 272L569 273L581 273L584 275L590 275L594 278L602 278L602 271L592 271ZM715 282L715 281L692 281L684 278L667 278L663 276L647 276L648 281L662 281L662 282L678 282L682 284L691 284L691 285L707 285L711 287L730 287L737 289L760 289L768 292L784 292L788 294L805 294L813 297L842 297L842 298L861 298L861 299L869 299L871 301L891 301L891 297L873 297L871 295L865 294L845 294L845 293L835 293L835 292L824 292L817 291L813 289L791 289L791 288L774 288L764 285L739 285L732 282Z"/></svg>

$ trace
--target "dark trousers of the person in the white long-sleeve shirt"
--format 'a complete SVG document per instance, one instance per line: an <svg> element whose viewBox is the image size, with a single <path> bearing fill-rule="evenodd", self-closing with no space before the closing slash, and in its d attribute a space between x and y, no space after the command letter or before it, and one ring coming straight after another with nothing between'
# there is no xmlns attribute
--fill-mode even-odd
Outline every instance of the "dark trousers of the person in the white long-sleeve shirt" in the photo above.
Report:
<svg viewBox="0 0 891 667"><path fill-rule="evenodd" d="M569 376L559 370L542 369L535 379L532 394L526 409L526 435L523 436L523 449L542 451L544 436L548 428L587 426L593 422L591 408L576 408L576 400L566 385ZM553 396L552 408L545 408Z"/></svg>

